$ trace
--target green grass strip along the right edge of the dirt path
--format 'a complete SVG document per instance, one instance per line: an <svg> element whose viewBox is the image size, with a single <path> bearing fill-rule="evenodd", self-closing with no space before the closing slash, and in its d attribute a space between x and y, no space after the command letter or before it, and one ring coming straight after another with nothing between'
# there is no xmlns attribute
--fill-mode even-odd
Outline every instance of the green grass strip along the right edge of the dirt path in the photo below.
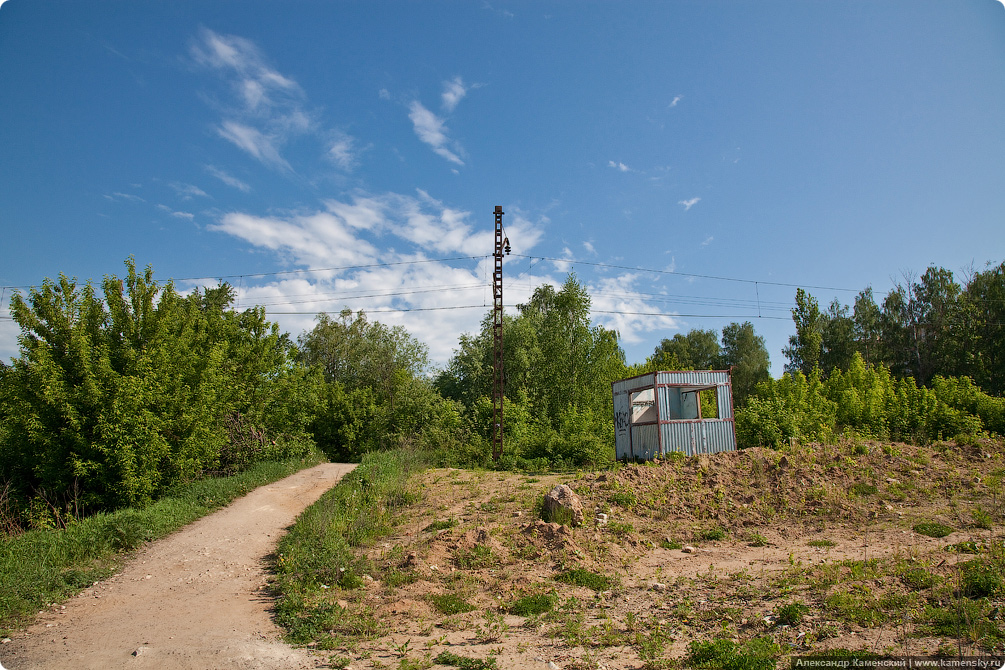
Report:
<svg viewBox="0 0 1005 670"><path fill-rule="evenodd" d="M398 510L417 494L410 473L424 464L414 452L372 452L337 486L304 510L276 547L275 619L293 644L334 649L346 640L385 632L364 606L343 607L339 590L352 590L373 572L357 547L386 534ZM326 588L329 587L329 588Z"/></svg>

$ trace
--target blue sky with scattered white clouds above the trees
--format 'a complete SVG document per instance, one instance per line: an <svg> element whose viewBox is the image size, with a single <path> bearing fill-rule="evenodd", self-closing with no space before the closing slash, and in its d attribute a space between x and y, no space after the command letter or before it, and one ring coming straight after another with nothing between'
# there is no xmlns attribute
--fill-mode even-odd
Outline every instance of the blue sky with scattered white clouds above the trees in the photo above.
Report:
<svg viewBox="0 0 1005 670"><path fill-rule="evenodd" d="M1003 157L999 0L7 0L0 357L12 287L132 255L442 364L501 205L508 305L575 271L629 362L751 320L777 375L796 286L1005 259Z"/></svg>

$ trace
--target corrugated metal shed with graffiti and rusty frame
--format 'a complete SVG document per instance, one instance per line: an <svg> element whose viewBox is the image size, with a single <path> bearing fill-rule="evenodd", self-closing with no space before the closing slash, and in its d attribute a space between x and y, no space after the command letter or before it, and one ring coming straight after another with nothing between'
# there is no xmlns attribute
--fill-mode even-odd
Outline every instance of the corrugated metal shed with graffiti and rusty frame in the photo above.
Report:
<svg viewBox="0 0 1005 670"><path fill-rule="evenodd" d="M737 448L729 371L647 373L614 382L611 389L618 460L651 460L671 451L694 456ZM713 392L717 416L701 416L702 391Z"/></svg>

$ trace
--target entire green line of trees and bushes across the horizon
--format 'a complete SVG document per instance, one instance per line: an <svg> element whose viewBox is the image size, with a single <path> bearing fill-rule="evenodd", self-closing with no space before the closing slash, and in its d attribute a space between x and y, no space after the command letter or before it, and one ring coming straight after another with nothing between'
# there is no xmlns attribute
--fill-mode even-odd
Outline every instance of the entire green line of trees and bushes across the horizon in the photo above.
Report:
<svg viewBox="0 0 1005 670"><path fill-rule="evenodd" d="M1005 263L964 284L929 268L877 305L796 293L786 374L749 322L662 340L628 364L590 321L576 276L505 316L504 456L490 455L491 314L430 371L424 345L364 312L321 313L295 341L238 310L227 284L179 293L127 261L97 287L65 276L15 294L19 356L0 363L0 514L24 527L143 505L179 482L319 449L333 460L409 447L446 465L525 469L613 460L611 383L732 369L741 446L978 439L1005 431ZM100 293L100 294L99 294ZM61 511L62 510L62 511Z"/></svg>

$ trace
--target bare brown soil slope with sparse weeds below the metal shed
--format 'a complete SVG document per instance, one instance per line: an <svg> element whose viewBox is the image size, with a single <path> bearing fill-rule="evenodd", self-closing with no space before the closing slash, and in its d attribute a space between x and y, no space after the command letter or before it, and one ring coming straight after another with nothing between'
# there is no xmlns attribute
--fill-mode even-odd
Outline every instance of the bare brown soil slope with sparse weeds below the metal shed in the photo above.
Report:
<svg viewBox="0 0 1005 670"><path fill-rule="evenodd" d="M947 547L994 544L1003 466L994 443L844 442L601 473L427 471L415 483L421 502L369 548L373 581L332 595L389 634L330 653L356 670L432 667L444 651L504 670L679 667L691 641L724 638L769 640L779 667L833 649L989 653L1001 647L988 633L1000 630L997 608L953 636L933 633L931 619L965 600L956 565L975 557ZM559 483L581 497L584 525L541 520L543 494ZM954 531L926 536L919 522ZM573 569L613 583L556 579ZM552 611L514 613L541 594ZM471 610L444 612L441 596ZM786 606L804 609L780 621Z"/></svg>

